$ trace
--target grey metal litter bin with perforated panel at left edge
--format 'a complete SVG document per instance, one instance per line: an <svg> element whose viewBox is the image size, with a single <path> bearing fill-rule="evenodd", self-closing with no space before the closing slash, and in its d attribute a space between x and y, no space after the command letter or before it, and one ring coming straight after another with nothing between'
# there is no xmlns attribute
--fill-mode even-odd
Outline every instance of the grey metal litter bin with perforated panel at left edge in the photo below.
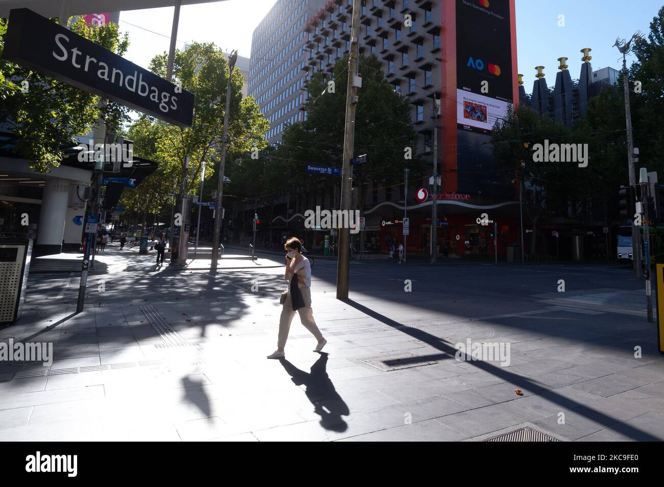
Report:
<svg viewBox="0 0 664 487"><path fill-rule="evenodd" d="M21 317L32 253L31 239L0 239L0 323Z"/></svg>

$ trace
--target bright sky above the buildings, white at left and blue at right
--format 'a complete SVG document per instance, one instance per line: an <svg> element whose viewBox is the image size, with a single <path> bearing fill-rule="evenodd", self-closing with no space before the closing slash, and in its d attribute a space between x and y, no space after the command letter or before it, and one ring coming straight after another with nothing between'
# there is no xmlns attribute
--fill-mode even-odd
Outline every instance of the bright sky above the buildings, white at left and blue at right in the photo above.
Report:
<svg viewBox="0 0 664 487"><path fill-rule="evenodd" d="M176 45L181 48L193 40L214 42L226 52L237 49L238 54L249 57L252 32L274 3L276 0L225 0L185 5ZM612 47L616 37L629 38L639 29L647 34L662 5L662 0L516 0L517 62L526 91L532 89L535 66L546 68L544 74L552 85L561 56L568 58L572 78L578 78L580 50L586 47L592 48L594 70L620 68L622 58ZM564 27L558 27L559 15L564 15L560 19ZM152 56L168 50L172 21L173 8L122 12L120 28L129 33L131 42L125 58L147 68Z"/></svg>

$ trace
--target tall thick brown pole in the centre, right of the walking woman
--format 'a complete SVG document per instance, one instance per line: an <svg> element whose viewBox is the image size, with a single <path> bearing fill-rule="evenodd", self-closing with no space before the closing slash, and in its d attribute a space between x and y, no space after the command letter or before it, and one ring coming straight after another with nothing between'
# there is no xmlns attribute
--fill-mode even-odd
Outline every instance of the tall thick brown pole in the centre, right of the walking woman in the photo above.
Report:
<svg viewBox="0 0 664 487"><path fill-rule="evenodd" d="M357 105L357 57L359 54L361 1L353 2L351 20L351 52L348 61L348 84L346 91L346 125L343 132L343 168L341 170L341 211L351 211L351 188L353 183L353 145L355 143L355 107ZM342 213L343 214L343 213ZM348 214L348 213L347 213ZM351 229L339 229L339 258L337 259L337 299L348 299L348 274L350 261Z"/></svg>

